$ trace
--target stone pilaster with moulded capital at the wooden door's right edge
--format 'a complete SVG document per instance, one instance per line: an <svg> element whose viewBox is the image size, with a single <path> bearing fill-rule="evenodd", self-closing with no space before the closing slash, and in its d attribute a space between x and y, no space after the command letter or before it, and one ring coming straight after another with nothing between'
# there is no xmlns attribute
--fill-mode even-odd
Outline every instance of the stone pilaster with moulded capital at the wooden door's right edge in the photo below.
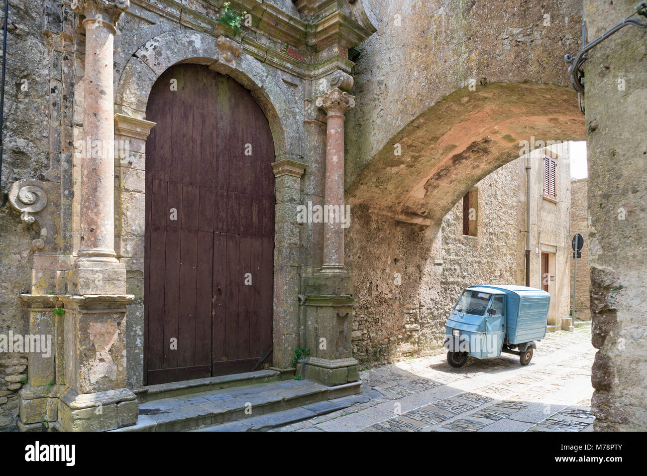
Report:
<svg viewBox="0 0 647 476"><path fill-rule="evenodd" d="M276 183L274 240L274 367L292 368L292 356L299 346L299 291L302 223L297 207L301 203L301 177L305 164L300 157L284 157L272 164Z"/></svg>

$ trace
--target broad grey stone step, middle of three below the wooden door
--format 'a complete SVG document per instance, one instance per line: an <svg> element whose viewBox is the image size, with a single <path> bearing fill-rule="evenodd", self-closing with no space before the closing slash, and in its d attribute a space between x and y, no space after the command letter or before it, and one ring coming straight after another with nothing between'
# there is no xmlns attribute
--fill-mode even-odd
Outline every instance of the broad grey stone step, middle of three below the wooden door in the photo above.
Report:
<svg viewBox="0 0 647 476"><path fill-rule="evenodd" d="M338 398L359 391L361 382L325 387L307 380L283 380L195 392L139 405L136 425L115 431L186 431L235 422Z"/></svg>

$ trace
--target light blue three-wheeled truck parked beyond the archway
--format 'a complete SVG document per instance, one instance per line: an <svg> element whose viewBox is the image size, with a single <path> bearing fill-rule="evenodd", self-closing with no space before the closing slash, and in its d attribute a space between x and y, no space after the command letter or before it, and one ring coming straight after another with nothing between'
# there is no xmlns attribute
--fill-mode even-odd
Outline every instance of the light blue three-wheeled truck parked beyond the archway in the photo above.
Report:
<svg viewBox="0 0 647 476"><path fill-rule="evenodd" d="M546 335L551 295L525 286L470 286L463 289L445 324L444 347L452 367L469 356L516 354L521 365L532 359L535 341Z"/></svg>

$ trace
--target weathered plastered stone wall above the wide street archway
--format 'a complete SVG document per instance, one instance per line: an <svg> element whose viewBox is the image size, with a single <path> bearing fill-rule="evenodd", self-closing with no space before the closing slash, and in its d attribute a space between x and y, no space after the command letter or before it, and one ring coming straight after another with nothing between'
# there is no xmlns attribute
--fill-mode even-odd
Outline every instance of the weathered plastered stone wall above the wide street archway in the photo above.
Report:
<svg viewBox="0 0 647 476"><path fill-rule="evenodd" d="M395 133L470 79L477 89L481 78L569 84L564 54L581 43L580 0L364 3L377 33L354 59L358 100L346 120L347 185Z"/></svg>

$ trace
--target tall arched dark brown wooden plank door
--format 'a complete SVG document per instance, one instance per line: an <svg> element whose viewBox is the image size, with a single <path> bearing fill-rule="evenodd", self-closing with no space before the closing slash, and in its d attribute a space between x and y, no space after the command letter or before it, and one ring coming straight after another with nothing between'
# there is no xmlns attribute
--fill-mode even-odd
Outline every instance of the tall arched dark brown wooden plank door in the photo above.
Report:
<svg viewBox="0 0 647 476"><path fill-rule="evenodd" d="M247 89L192 64L160 76L146 119L145 381L259 368L272 345L269 123Z"/></svg>

